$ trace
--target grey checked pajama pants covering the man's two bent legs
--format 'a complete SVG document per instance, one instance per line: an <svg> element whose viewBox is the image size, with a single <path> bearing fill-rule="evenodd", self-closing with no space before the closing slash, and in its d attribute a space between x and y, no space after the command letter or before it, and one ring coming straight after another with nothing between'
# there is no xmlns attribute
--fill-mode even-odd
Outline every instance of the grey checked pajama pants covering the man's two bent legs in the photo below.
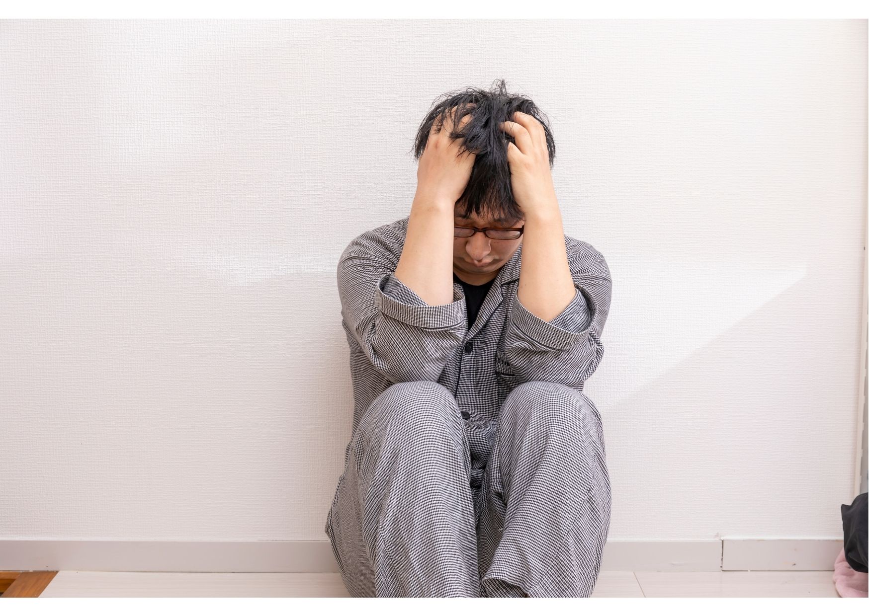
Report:
<svg viewBox="0 0 869 616"><path fill-rule="evenodd" d="M349 444L326 533L354 597L587 597L607 542L600 414L560 383L515 387L471 485L446 387L395 383Z"/></svg>

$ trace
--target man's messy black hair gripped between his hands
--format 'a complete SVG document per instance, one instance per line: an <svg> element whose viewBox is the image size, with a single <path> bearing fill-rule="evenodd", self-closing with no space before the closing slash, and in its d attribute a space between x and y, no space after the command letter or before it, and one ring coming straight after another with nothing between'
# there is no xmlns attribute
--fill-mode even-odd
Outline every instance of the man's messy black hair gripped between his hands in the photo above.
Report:
<svg viewBox="0 0 869 616"><path fill-rule="evenodd" d="M513 198L510 166L507 162L507 142L515 143L515 140L513 136L502 132L500 125L507 120L513 121L514 111L534 116L543 125L546 133L551 168L555 158L555 142L547 117L531 99L507 93L503 79L495 80L488 91L478 88L454 90L440 96L422 121L414 144L415 160L419 161L426 149L432 125L438 122L437 129L440 130L441 114L453 107L457 108L454 131L449 136L453 139L464 137L460 154L468 150L476 155L468 186L455 202L456 214L468 218L474 213L482 218L505 222L523 218L522 210ZM459 129L461 119L468 114L472 115L470 121L464 128Z"/></svg>

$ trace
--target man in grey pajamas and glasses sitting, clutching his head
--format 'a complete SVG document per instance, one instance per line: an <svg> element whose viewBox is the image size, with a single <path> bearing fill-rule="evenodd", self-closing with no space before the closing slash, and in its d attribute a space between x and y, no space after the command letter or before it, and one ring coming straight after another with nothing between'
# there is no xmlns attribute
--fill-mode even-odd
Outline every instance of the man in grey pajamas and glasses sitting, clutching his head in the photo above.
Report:
<svg viewBox="0 0 869 616"><path fill-rule="evenodd" d="M448 97L408 217L341 255L355 410L325 530L351 596L594 589L610 485L581 392L611 280L563 234L536 114L503 83Z"/></svg>

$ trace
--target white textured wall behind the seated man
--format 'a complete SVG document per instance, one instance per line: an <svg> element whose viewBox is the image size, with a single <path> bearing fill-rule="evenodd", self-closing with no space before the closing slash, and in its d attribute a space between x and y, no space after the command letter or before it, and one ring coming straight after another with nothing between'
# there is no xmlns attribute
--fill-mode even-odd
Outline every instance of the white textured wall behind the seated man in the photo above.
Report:
<svg viewBox="0 0 869 616"><path fill-rule="evenodd" d="M865 20L0 23L0 539L325 539L338 256L499 77L614 278L610 538L840 539Z"/></svg>

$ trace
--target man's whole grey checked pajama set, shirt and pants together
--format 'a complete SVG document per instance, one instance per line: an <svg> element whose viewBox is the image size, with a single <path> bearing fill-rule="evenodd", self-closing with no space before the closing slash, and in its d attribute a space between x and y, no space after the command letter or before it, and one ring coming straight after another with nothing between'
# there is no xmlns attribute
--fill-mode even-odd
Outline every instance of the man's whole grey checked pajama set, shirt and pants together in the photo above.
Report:
<svg viewBox="0 0 869 616"><path fill-rule="evenodd" d="M600 414L611 278L565 235L578 289L552 321L519 301L521 244L468 328L464 290L428 306L395 278L408 217L338 263L355 408L326 520L354 597L587 597L607 541Z"/></svg>

